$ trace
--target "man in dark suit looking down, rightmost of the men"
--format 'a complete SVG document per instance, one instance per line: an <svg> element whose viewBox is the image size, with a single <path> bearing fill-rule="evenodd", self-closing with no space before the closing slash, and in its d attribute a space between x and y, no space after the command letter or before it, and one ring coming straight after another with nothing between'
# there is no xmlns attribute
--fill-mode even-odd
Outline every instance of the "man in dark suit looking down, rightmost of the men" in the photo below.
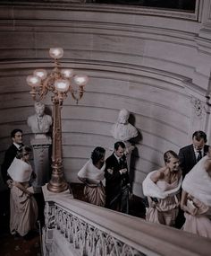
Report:
<svg viewBox="0 0 211 256"><path fill-rule="evenodd" d="M180 149L179 158L183 178L188 172L190 172L193 166L207 154L209 146L206 145L206 143L206 133L198 130L192 135L192 144Z"/></svg>

